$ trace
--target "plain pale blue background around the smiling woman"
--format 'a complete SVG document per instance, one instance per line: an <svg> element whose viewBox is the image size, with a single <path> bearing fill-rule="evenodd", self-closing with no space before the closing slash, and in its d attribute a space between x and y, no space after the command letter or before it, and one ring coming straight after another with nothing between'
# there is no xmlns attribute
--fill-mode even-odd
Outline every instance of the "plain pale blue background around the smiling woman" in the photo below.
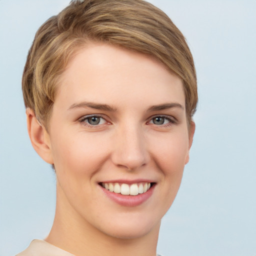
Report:
<svg viewBox="0 0 256 256"><path fill-rule="evenodd" d="M256 0L151 0L186 36L199 104L190 162L162 220L165 256L256 255ZM44 238L55 178L26 132L21 74L39 25L68 0L0 0L0 255Z"/></svg>

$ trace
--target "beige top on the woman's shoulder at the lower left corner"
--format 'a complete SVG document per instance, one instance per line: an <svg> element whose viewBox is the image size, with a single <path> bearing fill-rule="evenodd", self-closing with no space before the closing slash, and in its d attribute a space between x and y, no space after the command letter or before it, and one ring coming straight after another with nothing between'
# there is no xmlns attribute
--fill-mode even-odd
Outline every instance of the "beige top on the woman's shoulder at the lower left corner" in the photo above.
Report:
<svg viewBox="0 0 256 256"><path fill-rule="evenodd" d="M16 256L75 256L44 240L32 240L29 246Z"/></svg>

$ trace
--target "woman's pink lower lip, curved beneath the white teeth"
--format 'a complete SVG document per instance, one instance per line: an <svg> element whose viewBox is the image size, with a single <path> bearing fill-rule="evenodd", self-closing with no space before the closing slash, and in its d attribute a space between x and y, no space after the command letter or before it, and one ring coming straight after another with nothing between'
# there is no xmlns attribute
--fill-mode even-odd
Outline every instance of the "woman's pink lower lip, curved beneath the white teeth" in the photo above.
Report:
<svg viewBox="0 0 256 256"><path fill-rule="evenodd" d="M100 185L99 185L100 186ZM109 190L103 188L100 186L104 194L109 197L111 200L114 202L123 205L123 206L137 206L139 204L142 204L144 201L146 201L153 193L155 184L150 187L149 190L142 194L137 194L137 195L123 195L121 193L114 193L110 192Z"/></svg>

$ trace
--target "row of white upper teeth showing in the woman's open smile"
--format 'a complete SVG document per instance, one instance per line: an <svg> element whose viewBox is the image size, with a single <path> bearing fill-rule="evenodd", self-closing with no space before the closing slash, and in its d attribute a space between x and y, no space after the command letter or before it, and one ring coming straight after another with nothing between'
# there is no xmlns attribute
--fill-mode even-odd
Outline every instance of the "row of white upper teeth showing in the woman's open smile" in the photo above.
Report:
<svg viewBox="0 0 256 256"><path fill-rule="evenodd" d="M110 192L114 193L120 193L123 195L137 195L145 193L152 187L155 183L153 182L138 182L133 184L126 184L126 183L106 183L106 182L100 182L99 185L101 185L106 190L109 190Z"/></svg>

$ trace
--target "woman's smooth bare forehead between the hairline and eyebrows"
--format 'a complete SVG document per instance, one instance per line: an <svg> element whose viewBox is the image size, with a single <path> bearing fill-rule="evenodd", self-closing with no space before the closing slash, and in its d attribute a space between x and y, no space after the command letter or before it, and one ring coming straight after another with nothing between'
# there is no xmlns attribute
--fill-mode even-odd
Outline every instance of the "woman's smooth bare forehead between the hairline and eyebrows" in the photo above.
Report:
<svg viewBox="0 0 256 256"><path fill-rule="evenodd" d="M184 103L182 81L150 56L109 44L90 44L69 61L60 77L56 101L126 101ZM155 102L154 102L155 101ZM106 102L108 103L108 102Z"/></svg>

